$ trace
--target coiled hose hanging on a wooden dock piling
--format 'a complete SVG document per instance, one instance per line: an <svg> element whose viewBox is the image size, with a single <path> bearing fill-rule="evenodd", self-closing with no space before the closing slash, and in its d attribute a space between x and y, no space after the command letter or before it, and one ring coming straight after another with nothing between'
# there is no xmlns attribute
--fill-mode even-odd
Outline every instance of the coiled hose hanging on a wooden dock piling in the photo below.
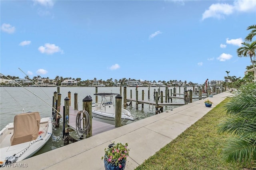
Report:
<svg viewBox="0 0 256 170"><path fill-rule="evenodd" d="M82 125L81 125L81 122L82 122ZM91 126L90 126L89 113L86 110L79 111L76 115L76 132L77 133L79 132L80 134L84 134L84 136L86 137L90 129L91 129Z"/></svg>

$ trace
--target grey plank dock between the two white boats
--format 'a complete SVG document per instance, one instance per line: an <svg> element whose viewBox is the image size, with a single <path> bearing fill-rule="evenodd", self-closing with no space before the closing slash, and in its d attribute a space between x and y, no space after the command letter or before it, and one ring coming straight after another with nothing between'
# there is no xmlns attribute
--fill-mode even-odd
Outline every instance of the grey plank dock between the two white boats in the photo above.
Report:
<svg viewBox="0 0 256 170"><path fill-rule="evenodd" d="M60 107L60 113L63 113L63 107ZM69 127L76 131L76 115L79 110L74 110L73 107L69 106ZM115 125L110 125L101 121L96 121L92 119L92 135L97 135L99 133L115 129Z"/></svg>

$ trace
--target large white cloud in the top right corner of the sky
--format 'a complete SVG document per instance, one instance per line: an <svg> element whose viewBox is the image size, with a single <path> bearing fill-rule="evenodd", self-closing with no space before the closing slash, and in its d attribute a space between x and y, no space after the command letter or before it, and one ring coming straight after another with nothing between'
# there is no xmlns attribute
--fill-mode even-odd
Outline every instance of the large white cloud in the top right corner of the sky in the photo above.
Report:
<svg viewBox="0 0 256 170"><path fill-rule="evenodd" d="M232 2L232 1L230 1ZM206 18L223 19L234 12L255 12L255 0L236 0L233 4L217 3L212 4L208 10L202 14L202 20Z"/></svg>

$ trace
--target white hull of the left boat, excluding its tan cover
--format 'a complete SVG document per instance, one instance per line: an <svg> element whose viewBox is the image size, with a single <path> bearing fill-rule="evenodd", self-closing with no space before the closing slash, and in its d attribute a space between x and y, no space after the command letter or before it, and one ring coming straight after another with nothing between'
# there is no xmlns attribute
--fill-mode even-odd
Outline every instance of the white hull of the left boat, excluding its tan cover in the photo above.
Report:
<svg viewBox="0 0 256 170"><path fill-rule="evenodd" d="M13 129L13 123L9 123L0 131L0 167L8 163L6 162L6 157L8 156L12 158L9 163L14 163L29 158L38 152L52 135L52 120L50 117L40 119L40 128L36 140L11 146L10 138L13 134Z"/></svg>

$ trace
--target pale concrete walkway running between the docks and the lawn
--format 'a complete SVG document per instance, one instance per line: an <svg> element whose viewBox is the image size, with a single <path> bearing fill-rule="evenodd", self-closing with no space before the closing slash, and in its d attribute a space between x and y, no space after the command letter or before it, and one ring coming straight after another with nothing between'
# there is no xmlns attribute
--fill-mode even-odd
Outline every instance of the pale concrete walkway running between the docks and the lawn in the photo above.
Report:
<svg viewBox="0 0 256 170"><path fill-rule="evenodd" d="M103 170L101 157L104 156L104 148L115 141L128 143L130 154L125 169L133 170L231 95L230 92L223 92L209 98L214 102L212 107L205 107L204 100L198 100L19 163L26 163L26 170Z"/></svg>

